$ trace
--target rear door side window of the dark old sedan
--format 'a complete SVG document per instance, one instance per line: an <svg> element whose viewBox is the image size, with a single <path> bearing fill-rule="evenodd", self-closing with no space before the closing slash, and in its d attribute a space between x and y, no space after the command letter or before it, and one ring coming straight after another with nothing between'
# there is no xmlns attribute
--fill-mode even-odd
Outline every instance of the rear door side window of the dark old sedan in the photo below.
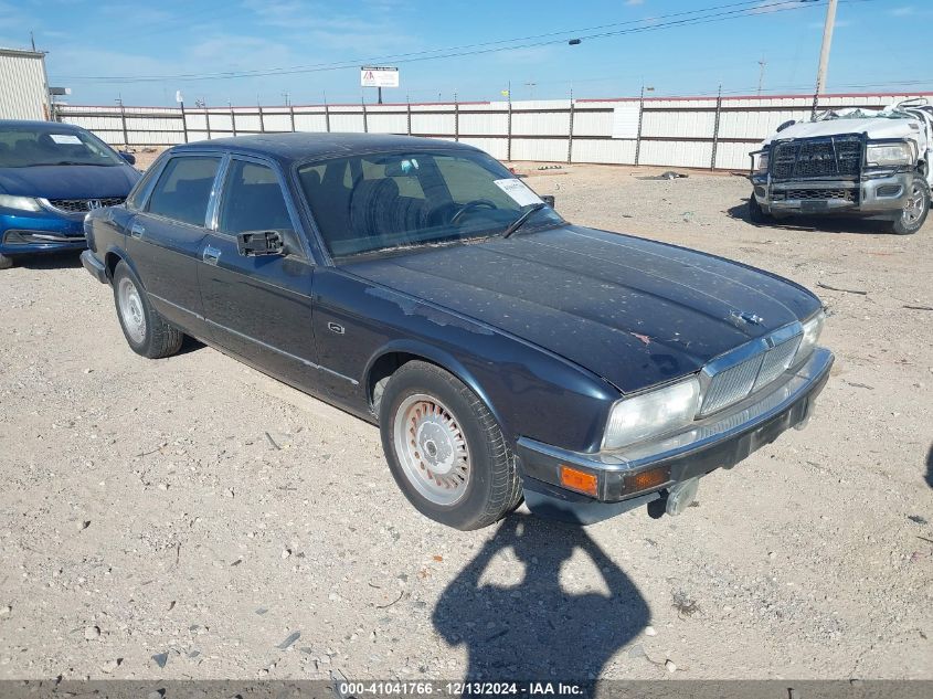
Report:
<svg viewBox="0 0 933 699"><path fill-rule="evenodd" d="M169 160L149 198L150 213L204 225L220 158L184 156Z"/></svg>

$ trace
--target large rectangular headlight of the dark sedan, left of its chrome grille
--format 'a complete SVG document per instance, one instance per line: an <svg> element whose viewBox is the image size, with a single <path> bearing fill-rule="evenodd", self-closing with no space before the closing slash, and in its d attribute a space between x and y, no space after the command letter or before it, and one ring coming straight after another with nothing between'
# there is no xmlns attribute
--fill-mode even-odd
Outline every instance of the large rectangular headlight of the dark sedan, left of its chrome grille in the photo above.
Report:
<svg viewBox="0 0 933 699"><path fill-rule="evenodd" d="M613 405L603 437L615 449L693 421L700 404L700 382L693 377L665 389L626 398Z"/></svg>

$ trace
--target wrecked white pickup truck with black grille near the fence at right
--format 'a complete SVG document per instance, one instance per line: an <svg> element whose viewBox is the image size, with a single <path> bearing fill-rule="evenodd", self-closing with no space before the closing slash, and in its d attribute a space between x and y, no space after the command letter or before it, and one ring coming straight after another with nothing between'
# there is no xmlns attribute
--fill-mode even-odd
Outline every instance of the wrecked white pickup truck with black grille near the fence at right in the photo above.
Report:
<svg viewBox="0 0 933 699"><path fill-rule="evenodd" d="M787 123L752 157L749 219L860 215L916 233L930 211L933 106L837 109Z"/></svg>

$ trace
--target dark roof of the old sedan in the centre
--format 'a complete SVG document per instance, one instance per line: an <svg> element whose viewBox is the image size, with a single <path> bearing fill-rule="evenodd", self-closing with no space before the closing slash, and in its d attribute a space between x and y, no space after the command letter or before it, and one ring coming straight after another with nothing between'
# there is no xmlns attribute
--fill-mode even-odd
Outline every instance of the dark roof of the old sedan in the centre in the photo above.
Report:
<svg viewBox="0 0 933 699"><path fill-rule="evenodd" d="M256 134L174 146L173 152L222 150L273 157L288 163L322 157L348 157L386 150L469 150L473 146L393 134Z"/></svg>

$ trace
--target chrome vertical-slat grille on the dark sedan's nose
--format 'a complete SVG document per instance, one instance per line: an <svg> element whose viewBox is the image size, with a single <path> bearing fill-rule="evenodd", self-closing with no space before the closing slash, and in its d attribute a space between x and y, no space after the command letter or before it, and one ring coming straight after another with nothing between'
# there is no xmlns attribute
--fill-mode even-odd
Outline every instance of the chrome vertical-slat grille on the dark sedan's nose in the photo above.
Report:
<svg viewBox="0 0 933 699"><path fill-rule="evenodd" d="M709 415L748 398L783 374L797 353L803 337L798 330L787 338L782 332L778 341L765 340L766 348L750 358L710 375L700 409L700 416ZM756 340L761 342L761 340Z"/></svg>

